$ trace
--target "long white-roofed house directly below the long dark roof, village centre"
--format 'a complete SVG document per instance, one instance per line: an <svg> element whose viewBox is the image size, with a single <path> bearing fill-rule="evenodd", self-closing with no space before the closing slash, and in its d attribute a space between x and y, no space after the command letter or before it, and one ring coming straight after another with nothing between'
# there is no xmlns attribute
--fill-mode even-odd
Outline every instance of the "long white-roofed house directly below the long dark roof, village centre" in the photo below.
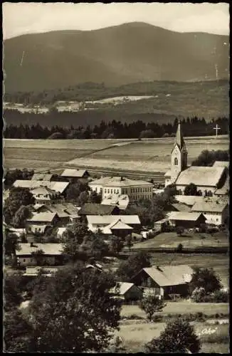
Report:
<svg viewBox="0 0 232 356"><path fill-rule="evenodd" d="M139 216L137 215L87 215L86 219L88 221L88 228L93 232L97 231L98 229L103 231L104 228L107 228L106 231L109 231L111 224L115 223L117 223L117 227L122 227L122 224L125 224L134 229L138 229L141 224Z"/></svg>

